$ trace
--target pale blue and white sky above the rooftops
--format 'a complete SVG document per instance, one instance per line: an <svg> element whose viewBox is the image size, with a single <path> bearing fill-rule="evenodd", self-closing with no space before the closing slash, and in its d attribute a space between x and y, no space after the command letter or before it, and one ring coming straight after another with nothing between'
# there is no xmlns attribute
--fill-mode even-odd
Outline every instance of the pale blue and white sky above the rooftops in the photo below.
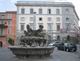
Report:
<svg viewBox="0 0 80 61"><path fill-rule="evenodd" d="M80 18L80 0L0 0L0 12L16 11L15 3L17 1L49 1L49 2L72 2ZM79 23L80 26L80 23Z"/></svg>

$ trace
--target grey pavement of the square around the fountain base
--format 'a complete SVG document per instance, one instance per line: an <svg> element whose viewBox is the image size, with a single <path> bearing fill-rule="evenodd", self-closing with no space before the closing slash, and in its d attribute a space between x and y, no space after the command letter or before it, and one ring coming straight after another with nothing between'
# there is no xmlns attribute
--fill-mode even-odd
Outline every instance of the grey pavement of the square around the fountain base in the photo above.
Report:
<svg viewBox="0 0 80 61"><path fill-rule="evenodd" d="M16 58L7 48L0 48L0 61L80 61L76 52L58 51L56 48L49 57Z"/></svg>

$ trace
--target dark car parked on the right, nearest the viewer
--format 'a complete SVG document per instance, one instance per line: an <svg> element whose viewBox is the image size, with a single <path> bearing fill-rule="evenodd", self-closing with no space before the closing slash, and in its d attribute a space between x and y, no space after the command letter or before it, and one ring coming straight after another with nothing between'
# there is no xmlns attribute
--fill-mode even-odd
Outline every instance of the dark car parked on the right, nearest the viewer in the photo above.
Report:
<svg viewBox="0 0 80 61"><path fill-rule="evenodd" d="M57 46L58 50L68 51L68 52L75 52L77 51L76 44L72 43L61 43Z"/></svg>

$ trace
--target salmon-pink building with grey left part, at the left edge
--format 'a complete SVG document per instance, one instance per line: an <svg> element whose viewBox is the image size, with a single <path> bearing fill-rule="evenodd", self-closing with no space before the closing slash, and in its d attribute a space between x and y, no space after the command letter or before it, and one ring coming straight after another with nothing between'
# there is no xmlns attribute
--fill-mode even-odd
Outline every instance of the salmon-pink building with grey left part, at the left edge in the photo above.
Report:
<svg viewBox="0 0 80 61"><path fill-rule="evenodd" d="M9 45L8 38L16 39L16 12L0 12L0 46Z"/></svg>

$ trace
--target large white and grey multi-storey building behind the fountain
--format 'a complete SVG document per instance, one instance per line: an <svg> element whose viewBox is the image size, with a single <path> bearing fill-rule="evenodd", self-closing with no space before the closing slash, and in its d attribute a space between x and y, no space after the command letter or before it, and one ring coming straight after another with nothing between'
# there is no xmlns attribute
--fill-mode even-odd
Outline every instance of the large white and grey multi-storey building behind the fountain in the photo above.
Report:
<svg viewBox="0 0 80 61"><path fill-rule="evenodd" d="M39 25L43 25L52 40L68 34L74 36L79 30L79 18L74 5L70 2L18 1L16 6L18 34L26 30L27 24L34 30L38 29Z"/></svg>

